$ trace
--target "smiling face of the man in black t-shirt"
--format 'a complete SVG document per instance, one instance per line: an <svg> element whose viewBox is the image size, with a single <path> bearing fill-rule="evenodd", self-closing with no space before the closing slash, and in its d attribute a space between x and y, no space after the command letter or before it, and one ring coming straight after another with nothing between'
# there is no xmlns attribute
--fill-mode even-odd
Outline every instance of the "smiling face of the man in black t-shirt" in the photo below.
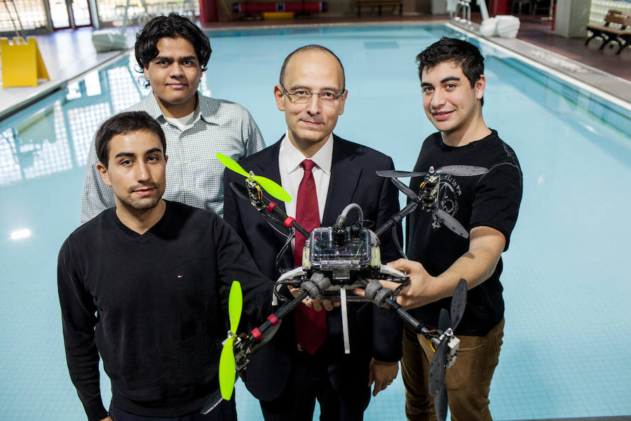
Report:
<svg viewBox="0 0 631 421"><path fill-rule="evenodd" d="M423 108L427 118L443 135L466 133L481 113L480 99L484 95L486 79L480 76L473 88L454 62L441 62L423 69L421 88Z"/></svg>

